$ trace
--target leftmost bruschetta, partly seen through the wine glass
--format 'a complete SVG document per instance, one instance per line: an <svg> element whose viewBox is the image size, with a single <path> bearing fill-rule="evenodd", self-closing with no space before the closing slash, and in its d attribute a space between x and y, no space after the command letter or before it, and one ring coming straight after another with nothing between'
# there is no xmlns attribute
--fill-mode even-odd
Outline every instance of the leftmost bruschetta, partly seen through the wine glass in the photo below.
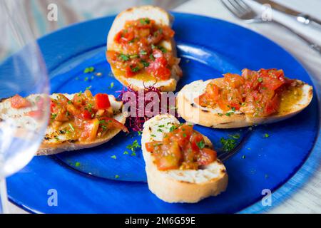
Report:
<svg viewBox="0 0 321 228"><path fill-rule="evenodd" d="M46 95L15 95L0 103L0 119L14 119L17 125L33 130L36 118L44 115ZM37 155L53 155L58 152L80 150L101 145L111 140L124 126L126 113L123 103L113 95L90 90L84 93L50 95L50 120L46 135ZM33 104L33 105L31 105Z"/></svg>

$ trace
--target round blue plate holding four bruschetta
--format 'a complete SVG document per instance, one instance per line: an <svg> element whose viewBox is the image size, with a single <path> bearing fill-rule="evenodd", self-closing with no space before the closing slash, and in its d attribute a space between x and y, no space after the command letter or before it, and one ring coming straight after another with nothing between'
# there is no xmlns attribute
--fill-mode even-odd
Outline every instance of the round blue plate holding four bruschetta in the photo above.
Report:
<svg viewBox="0 0 321 228"><path fill-rule="evenodd" d="M243 68L282 68L286 76L312 84L300 63L258 33L218 19L174 16L173 29L184 72L178 90L186 83L218 78L227 72L240 73ZM93 93L117 95L116 91L123 88L111 76L105 58L106 36L113 19L76 24L39 40L52 92L77 93L91 86ZM83 73L89 66L95 72ZM252 130L196 126L218 150L222 147L220 138L240 135L238 152L224 161L229 175L227 191L198 204L168 204L151 194L141 150L133 154L126 148L134 140L140 142L140 136L125 133L88 150L34 157L23 170L8 178L9 197L24 209L44 213L238 212L258 202L263 189L277 190L305 162L317 136L317 110L314 98L294 118ZM57 207L47 202L52 189L58 192Z"/></svg>

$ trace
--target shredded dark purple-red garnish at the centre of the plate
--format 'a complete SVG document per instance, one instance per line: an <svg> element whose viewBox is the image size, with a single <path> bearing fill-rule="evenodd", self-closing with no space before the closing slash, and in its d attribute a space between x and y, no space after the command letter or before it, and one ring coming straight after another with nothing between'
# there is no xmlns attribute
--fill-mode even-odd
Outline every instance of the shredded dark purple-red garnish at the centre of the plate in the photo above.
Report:
<svg viewBox="0 0 321 228"><path fill-rule="evenodd" d="M139 95L138 91L136 90L133 90L131 87L128 87L128 88L123 88L122 90L119 90L119 91L116 91L116 93L120 93L120 95L118 95L118 98L120 100L123 101L123 104L125 105L126 103L131 103L132 100L130 99L126 99L124 98L124 94L126 93L133 93L133 95L135 95L135 98L136 98L136 108L135 108L135 112L136 112L136 116L132 116L132 115L129 115L127 120L126 120L126 127L130 130L133 130L133 131L141 131L143 130L143 124L145 123L145 121L149 120L150 118L153 118L154 115L158 115L160 113L175 113L175 116L177 117L177 113L175 111L175 103L173 105L173 107L170 107L169 105L169 100L170 98L166 97L166 107L163 108L162 110L162 103L161 103L161 100L162 100L162 92L161 90L159 90L158 88L154 87L154 86L149 86L149 87L145 87L144 89L144 94L143 96ZM151 113L145 113L145 110L140 110L140 108L143 108L145 109L146 105L148 105L148 103L151 103L153 101L153 99L150 99L150 98L146 98L146 94L148 94L149 92L154 92L158 95L158 100L155 101L155 102L158 102L158 106L159 106L159 112L157 113L153 113L154 115L151 116ZM143 105L140 105L142 104ZM131 108L132 107L135 107L134 105L131 105ZM131 108L128 109L128 112L132 113L133 111L131 110ZM170 112L170 110L172 110ZM143 116L139 115L139 114L142 114L143 112ZM153 108L151 108L151 112L153 112ZM149 114L149 115L147 115Z"/></svg>

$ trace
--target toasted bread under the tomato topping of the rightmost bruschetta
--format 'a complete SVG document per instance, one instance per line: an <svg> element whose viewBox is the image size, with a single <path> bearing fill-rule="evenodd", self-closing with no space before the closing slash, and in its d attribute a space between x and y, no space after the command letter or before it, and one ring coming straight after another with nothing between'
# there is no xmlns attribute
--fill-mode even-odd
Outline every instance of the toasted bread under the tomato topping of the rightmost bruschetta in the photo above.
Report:
<svg viewBox="0 0 321 228"><path fill-rule="evenodd" d="M217 78L215 80L220 80ZM300 100L295 100L290 106L286 108L280 108L278 113L265 117L255 117L253 115L245 115L236 110L231 115L225 115L228 112L224 112L220 108L204 108L194 102L195 98L205 92L205 88L212 80L208 81L194 81L182 88L177 96L177 108L179 115L186 121L196 123L210 128L242 128L251 125L275 123L277 121L285 120L287 118L300 113L312 100L312 86L297 80L302 90L302 96ZM281 107L285 106L282 104Z"/></svg>

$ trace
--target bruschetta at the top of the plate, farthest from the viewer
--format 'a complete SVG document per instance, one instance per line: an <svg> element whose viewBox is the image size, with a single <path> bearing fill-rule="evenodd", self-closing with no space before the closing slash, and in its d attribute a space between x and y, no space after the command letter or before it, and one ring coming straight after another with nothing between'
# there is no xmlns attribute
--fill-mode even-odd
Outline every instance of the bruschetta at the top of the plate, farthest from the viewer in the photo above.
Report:
<svg viewBox="0 0 321 228"><path fill-rule="evenodd" d="M138 6L116 16L108 33L106 58L124 86L175 90L182 71L172 21L173 16L156 6Z"/></svg>

